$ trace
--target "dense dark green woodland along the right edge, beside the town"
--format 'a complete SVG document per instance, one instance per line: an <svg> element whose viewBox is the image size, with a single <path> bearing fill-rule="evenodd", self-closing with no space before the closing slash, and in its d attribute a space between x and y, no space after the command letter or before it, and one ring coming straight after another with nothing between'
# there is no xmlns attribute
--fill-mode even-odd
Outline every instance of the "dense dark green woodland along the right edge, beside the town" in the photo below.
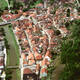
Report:
<svg viewBox="0 0 80 80"><path fill-rule="evenodd" d="M72 34L61 46L61 61L66 66L60 80L75 80L80 75L80 20L73 21L71 26Z"/></svg>

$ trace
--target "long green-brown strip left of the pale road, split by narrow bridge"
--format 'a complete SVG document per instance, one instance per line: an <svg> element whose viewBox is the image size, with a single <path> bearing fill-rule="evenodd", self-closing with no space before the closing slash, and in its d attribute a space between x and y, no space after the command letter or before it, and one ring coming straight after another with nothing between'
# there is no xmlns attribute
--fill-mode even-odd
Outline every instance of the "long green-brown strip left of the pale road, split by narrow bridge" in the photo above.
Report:
<svg viewBox="0 0 80 80"><path fill-rule="evenodd" d="M7 66L19 65L19 47L12 31L12 27L9 27L9 25L0 26L0 28L2 27L4 28L5 37L9 44L9 49L7 49ZM12 69L11 76L11 80L20 80L20 70Z"/></svg>

